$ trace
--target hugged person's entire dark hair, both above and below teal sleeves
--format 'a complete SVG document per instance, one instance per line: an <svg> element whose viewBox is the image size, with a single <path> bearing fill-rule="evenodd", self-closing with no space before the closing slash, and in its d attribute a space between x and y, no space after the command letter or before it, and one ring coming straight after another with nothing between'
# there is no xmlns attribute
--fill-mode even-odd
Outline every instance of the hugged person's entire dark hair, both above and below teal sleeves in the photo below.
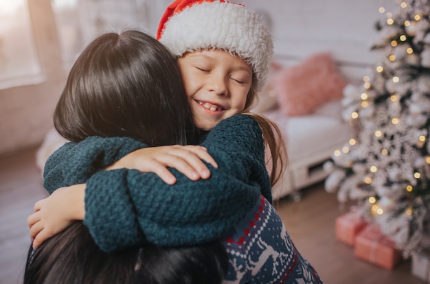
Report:
<svg viewBox="0 0 430 284"><path fill-rule="evenodd" d="M82 51L56 106L54 125L70 141L132 137L152 146L190 143L196 132L175 58L135 30L103 34ZM24 283L220 283L227 265L218 240L106 253L76 222L37 250L30 246Z"/></svg>

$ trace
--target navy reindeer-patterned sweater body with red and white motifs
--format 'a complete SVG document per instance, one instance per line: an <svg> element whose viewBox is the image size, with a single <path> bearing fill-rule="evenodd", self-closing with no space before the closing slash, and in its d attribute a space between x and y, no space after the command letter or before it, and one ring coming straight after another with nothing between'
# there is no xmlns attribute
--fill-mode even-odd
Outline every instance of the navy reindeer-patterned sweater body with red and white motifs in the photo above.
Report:
<svg viewBox="0 0 430 284"><path fill-rule="evenodd" d="M223 284L322 283L263 196L222 242L229 256Z"/></svg>

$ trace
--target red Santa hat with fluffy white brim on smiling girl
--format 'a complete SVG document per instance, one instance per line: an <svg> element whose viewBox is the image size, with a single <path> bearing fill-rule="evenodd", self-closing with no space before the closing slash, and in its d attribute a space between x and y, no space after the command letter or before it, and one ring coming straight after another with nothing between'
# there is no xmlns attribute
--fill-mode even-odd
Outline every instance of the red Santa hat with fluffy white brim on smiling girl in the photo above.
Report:
<svg viewBox="0 0 430 284"><path fill-rule="evenodd" d="M176 56L200 49L223 49L251 65L259 91L269 73L273 43L257 14L225 0L177 0L164 12L157 39Z"/></svg>

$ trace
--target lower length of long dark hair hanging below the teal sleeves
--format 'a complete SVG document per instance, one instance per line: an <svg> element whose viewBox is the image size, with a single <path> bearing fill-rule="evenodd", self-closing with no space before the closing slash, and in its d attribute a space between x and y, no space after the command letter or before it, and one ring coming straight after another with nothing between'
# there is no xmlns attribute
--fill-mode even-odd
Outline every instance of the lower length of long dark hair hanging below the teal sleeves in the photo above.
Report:
<svg viewBox="0 0 430 284"><path fill-rule="evenodd" d="M227 261L220 241L178 248L148 244L106 253L77 221L37 250L30 247L24 284L220 283Z"/></svg>

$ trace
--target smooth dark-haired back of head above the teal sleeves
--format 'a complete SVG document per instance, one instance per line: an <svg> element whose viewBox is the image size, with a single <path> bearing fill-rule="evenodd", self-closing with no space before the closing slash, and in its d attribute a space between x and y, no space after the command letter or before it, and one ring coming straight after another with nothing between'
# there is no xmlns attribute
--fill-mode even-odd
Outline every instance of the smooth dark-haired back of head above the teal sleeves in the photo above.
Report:
<svg viewBox="0 0 430 284"><path fill-rule="evenodd" d="M98 36L71 68L54 125L76 142L96 135L184 143L192 117L174 56L139 31Z"/></svg>

